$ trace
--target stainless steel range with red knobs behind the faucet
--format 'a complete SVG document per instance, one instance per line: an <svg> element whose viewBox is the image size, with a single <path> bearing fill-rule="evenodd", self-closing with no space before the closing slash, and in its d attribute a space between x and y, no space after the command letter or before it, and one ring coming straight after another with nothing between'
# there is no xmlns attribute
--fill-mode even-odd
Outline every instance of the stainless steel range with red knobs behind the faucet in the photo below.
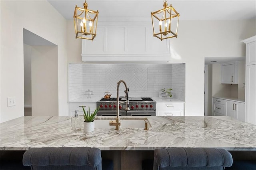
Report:
<svg viewBox="0 0 256 170"><path fill-rule="evenodd" d="M120 104L120 116L156 116L156 101L150 97L128 97L130 110L126 111L126 103ZM119 101L126 101L126 98L119 97ZM116 116L116 98L100 99L97 101L100 107L98 116Z"/></svg>

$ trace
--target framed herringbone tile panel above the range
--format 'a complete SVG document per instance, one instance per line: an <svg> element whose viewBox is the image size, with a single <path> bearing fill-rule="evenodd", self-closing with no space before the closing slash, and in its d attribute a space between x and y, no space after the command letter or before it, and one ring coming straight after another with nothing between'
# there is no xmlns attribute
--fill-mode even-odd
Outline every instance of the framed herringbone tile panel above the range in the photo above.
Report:
<svg viewBox="0 0 256 170"><path fill-rule="evenodd" d="M106 89L116 90L116 82L124 80L130 90L148 90L147 68L106 68Z"/></svg>

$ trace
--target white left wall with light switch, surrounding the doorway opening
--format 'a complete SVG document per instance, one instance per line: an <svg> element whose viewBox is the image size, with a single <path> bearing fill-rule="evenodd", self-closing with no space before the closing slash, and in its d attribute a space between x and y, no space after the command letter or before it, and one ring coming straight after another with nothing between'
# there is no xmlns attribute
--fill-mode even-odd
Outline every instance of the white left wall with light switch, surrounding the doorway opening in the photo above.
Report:
<svg viewBox="0 0 256 170"><path fill-rule="evenodd" d="M1 0L0 21L0 122L24 115L23 28L58 45L58 110L68 115L66 20L46 0Z"/></svg>

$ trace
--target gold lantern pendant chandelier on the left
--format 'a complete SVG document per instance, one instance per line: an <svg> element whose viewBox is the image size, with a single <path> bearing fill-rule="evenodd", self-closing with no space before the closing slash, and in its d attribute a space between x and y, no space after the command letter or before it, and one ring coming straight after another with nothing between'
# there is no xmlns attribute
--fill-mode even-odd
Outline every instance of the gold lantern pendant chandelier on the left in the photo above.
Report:
<svg viewBox="0 0 256 170"><path fill-rule="evenodd" d="M84 8L77 7L74 12L74 25L76 38L92 40L96 36L97 23L98 23L98 10L88 10L86 0Z"/></svg>

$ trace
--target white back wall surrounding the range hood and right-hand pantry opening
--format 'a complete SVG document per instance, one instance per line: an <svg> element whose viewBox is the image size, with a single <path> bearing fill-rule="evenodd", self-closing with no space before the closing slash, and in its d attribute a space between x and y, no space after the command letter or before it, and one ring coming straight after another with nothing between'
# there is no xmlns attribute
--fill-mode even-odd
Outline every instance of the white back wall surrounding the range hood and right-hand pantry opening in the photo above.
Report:
<svg viewBox="0 0 256 170"><path fill-rule="evenodd" d="M73 24L68 21L68 32ZM180 20L178 38L170 40L170 63L186 63L186 115L204 115L204 58L245 56L241 40L255 34L255 20ZM68 37L68 63L82 63L80 40L73 37Z"/></svg>

